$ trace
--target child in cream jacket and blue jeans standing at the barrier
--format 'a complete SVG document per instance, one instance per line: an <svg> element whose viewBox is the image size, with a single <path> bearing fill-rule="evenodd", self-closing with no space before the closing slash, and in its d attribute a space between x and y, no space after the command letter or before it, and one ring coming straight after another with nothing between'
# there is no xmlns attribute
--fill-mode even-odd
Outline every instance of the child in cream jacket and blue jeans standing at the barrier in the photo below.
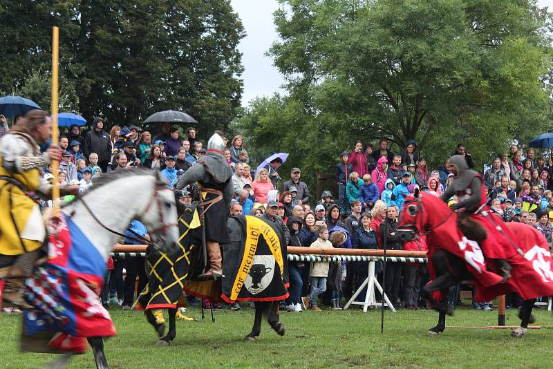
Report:
<svg viewBox="0 0 553 369"><path fill-rule="evenodd" d="M328 240L328 228L321 226L317 229L317 240L310 247L320 249L332 249L332 243ZM326 256L328 258L328 256ZM309 272L311 278L311 291L307 299L304 298L303 305L306 309L311 307L312 310L321 311L317 306L317 297L326 291L326 277L328 276L328 261L316 261L311 263Z"/></svg>

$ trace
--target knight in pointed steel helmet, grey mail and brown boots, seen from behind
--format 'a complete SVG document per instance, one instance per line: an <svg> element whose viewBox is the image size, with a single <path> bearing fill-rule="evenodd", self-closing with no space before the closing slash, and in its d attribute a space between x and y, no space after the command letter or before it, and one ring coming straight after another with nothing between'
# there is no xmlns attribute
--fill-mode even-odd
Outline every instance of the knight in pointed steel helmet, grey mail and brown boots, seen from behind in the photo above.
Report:
<svg viewBox="0 0 553 369"><path fill-rule="evenodd" d="M209 270L198 278L223 276L221 243L229 243L227 215L232 200L232 169L224 156L223 138L215 133L207 142L207 153L196 160L177 182L176 189L184 189L198 182L200 211L203 213L205 244L209 256Z"/></svg>

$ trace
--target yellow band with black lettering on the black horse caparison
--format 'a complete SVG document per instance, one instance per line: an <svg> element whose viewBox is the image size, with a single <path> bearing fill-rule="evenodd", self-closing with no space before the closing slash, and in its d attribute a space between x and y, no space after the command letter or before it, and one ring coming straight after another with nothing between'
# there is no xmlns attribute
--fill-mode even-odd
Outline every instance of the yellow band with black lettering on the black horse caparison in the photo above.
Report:
<svg viewBox="0 0 553 369"><path fill-rule="evenodd" d="M246 280L247 274L250 272L252 267L252 262L257 250L257 243L259 241L259 236L262 236L269 249L271 250L272 255L274 256L275 261L281 269L281 278L284 273L284 259L282 256L281 244L279 242L279 236L277 232L270 227L263 220L255 216L246 216L246 240L244 245L244 256L236 273L236 278L234 279L234 284L232 287L232 293L230 294L231 300L236 300L238 294L242 290L244 282Z"/></svg>

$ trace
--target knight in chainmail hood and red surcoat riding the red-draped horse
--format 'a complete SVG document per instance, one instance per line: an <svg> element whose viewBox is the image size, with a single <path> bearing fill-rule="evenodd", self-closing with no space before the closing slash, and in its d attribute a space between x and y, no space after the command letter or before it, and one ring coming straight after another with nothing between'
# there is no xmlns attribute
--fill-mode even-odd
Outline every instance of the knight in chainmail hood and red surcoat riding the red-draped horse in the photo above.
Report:
<svg viewBox="0 0 553 369"><path fill-rule="evenodd" d="M469 169L462 155L453 155L448 169L455 179L440 198L447 203L453 195L457 196L458 203L451 205L451 209L462 210L458 216L460 230L467 238L478 242L482 254L495 262L498 274L506 281L511 276L511 265L506 259L518 249L513 243L516 238L499 217L485 208L486 187L480 173Z"/></svg>

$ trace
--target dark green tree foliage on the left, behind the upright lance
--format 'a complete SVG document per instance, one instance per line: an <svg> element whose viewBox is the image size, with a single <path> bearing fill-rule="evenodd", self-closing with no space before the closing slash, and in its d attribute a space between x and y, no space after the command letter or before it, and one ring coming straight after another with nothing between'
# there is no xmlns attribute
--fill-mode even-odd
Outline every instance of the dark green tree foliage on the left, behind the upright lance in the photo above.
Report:
<svg viewBox="0 0 553 369"><path fill-rule="evenodd" d="M0 15L0 91L49 104L57 25L60 100L89 119L136 124L174 109L212 131L226 128L240 105L244 31L229 0L0 0Z"/></svg>

